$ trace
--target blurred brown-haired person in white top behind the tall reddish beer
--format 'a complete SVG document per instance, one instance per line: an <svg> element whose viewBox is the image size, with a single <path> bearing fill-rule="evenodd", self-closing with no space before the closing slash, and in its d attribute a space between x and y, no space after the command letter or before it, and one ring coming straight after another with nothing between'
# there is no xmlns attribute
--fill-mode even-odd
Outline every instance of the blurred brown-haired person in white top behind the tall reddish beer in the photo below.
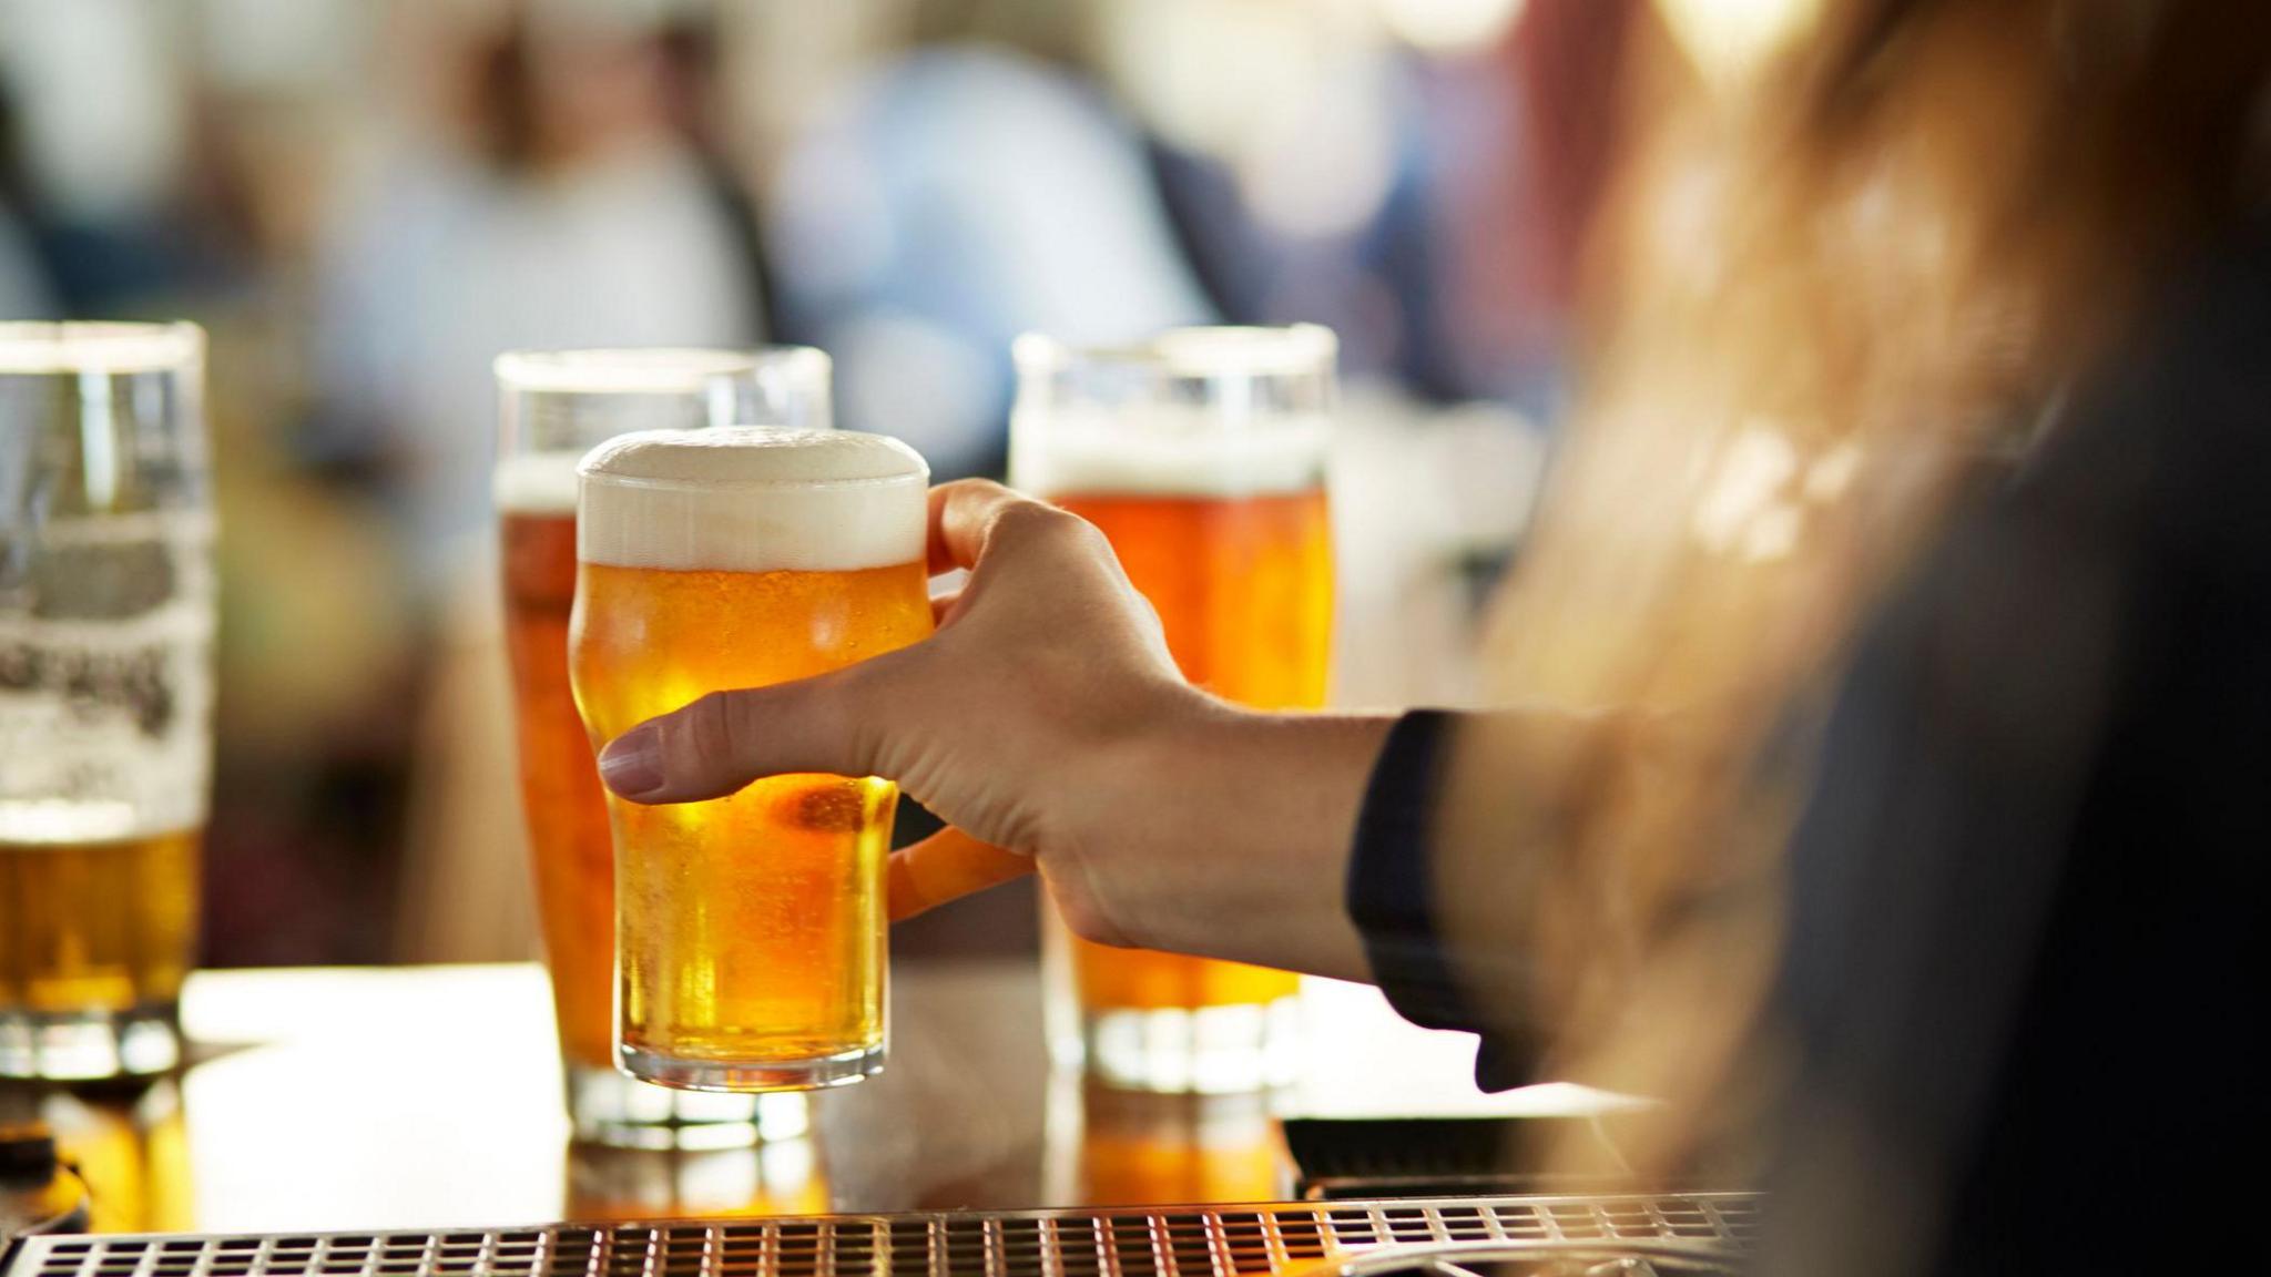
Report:
<svg viewBox="0 0 2271 1277"><path fill-rule="evenodd" d="M763 341L759 266L681 132L647 7L393 11L409 118L332 198L318 279L327 445L379 468L418 579L486 536L491 359Z"/></svg>

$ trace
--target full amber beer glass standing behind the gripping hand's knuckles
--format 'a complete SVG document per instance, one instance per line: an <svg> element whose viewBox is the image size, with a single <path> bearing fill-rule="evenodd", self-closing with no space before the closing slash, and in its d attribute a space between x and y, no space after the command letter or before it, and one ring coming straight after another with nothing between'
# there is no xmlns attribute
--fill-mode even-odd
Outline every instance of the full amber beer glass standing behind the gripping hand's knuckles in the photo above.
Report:
<svg viewBox="0 0 2271 1277"><path fill-rule="evenodd" d="M1333 334L1199 327L1095 350L1026 334L1015 357L1011 482L1104 529L1190 682L1324 707ZM1092 945L1054 918L1045 963L1061 1063L1149 1091L1290 1079L1290 973Z"/></svg>

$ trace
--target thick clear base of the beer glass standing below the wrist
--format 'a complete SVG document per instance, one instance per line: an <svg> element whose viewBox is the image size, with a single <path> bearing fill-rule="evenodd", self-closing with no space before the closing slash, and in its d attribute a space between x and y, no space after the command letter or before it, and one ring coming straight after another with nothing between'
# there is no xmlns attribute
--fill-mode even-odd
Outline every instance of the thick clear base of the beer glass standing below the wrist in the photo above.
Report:
<svg viewBox="0 0 2271 1277"><path fill-rule="evenodd" d="M1058 1068L1120 1091L1229 1095L1290 1086L1301 1059L1301 1000L1240 1007L1086 1009L1051 1034Z"/></svg>

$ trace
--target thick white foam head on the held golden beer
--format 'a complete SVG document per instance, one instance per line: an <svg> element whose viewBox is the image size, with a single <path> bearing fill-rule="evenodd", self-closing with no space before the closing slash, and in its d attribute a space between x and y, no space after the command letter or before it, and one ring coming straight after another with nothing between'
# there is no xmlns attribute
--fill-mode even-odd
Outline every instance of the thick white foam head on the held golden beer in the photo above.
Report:
<svg viewBox="0 0 2271 1277"><path fill-rule="evenodd" d="M931 468L852 429L647 429L577 466L577 557L618 568L852 573L920 564Z"/></svg>

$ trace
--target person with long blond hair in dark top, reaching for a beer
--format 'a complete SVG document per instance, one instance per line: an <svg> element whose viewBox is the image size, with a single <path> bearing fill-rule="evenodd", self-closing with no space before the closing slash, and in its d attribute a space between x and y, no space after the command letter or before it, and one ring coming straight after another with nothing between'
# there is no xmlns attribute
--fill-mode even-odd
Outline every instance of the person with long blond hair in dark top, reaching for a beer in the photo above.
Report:
<svg viewBox="0 0 2271 1277"><path fill-rule="evenodd" d="M1656 1095L1631 1166L1522 1152L1765 1179L1769 1272L2221 1252L2192 1168L2271 1118L2226 1027L2271 966L2271 23L1658 14L1490 652L1519 709L1215 702L1092 527L952 484L933 638L602 773L893 775L1090 938L1374 977L1485 1084ZM1015 868L911 848L895 909Z"/></svg>

